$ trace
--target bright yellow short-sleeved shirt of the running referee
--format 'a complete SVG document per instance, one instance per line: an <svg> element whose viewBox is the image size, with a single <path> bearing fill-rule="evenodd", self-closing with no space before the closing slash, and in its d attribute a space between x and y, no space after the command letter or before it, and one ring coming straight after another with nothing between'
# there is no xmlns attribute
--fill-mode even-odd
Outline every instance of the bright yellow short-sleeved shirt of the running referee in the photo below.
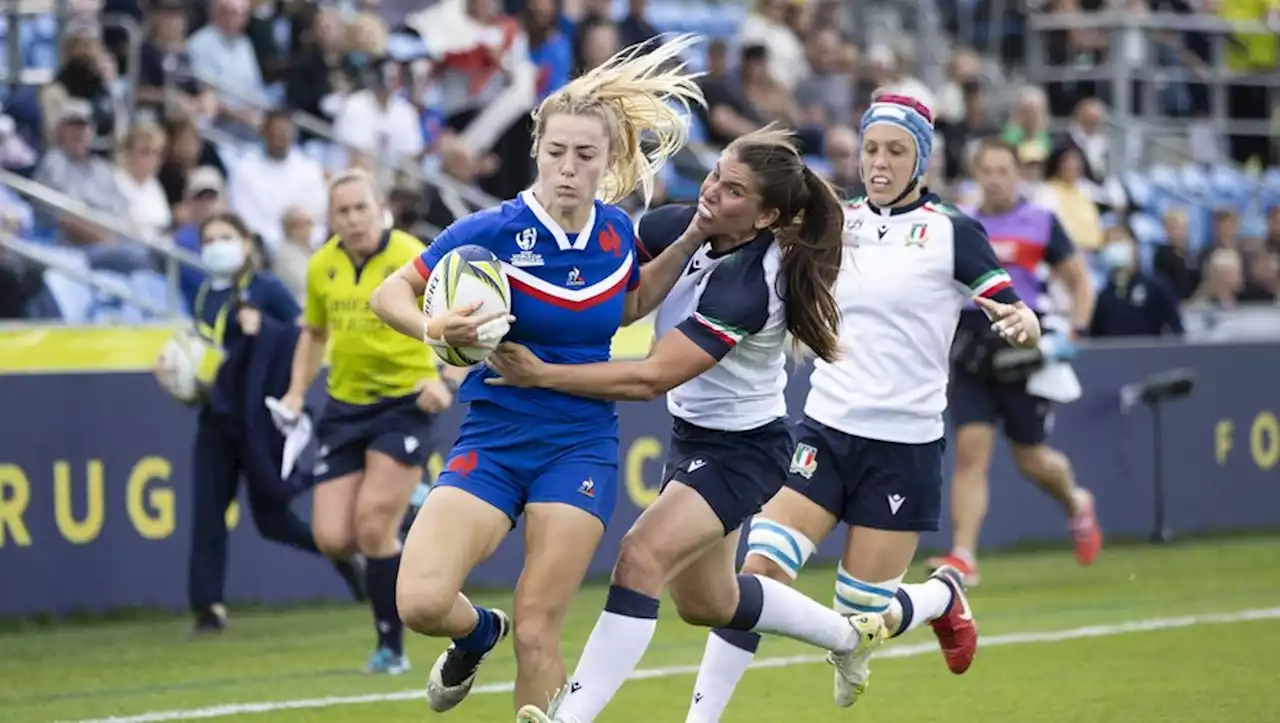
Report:
<svg viewBox="0 0 1280 723"><path fill-rule="evenodd" d="M438 372L435 357L383 324L369 308L387 276L416 258L426 246L399 230L383 234L378 251L362 266L333 237L307 264L306 324L329 331L329 395L347 404L371 404L404 397Z"/></svg>

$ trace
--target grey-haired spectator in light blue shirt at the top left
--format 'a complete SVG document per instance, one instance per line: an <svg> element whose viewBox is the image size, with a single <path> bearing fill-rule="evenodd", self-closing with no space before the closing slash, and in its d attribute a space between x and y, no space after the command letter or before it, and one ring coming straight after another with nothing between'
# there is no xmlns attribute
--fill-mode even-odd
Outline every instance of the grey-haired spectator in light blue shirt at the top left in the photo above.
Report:
<svg viewBox="0 0 1280 723"><path fill-rule="evenodd" d="M216 125L244 139L257 133L266 105L262 69L244 35L248 9L248 0L212 0L209 24L187 40L192 69L202 82L216 82Z"/></svg>

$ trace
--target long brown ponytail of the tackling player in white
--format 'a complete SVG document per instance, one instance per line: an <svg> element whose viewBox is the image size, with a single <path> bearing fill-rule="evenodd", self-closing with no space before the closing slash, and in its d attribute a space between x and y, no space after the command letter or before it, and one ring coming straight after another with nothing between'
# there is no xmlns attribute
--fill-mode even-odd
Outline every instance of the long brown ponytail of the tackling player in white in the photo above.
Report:
<svg viewBox="0 0 1280 723"><path fill-rule="evenodd" d="M808 201L792 224L777 234L787 284L787 330L818 358L840 356L836 278L844 256L845 207L831 186L803 166Z"/></svg>

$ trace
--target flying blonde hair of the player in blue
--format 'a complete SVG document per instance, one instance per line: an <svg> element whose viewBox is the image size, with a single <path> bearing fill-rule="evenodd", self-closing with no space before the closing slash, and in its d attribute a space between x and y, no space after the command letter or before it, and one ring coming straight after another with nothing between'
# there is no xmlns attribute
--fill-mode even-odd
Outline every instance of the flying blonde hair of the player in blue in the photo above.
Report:
<svg viewBox="0 0 1280 723"><path fill-rule="evenodd" d="M700 40L685 33L632 45L547 96L532 113L534 152L550 116L594 115L609 134L609 168L596 197L616 203L640 189L648 206L658 171L689 139L691 106L707 105L695 82L700 73L687 72L680 58Z"/></svg>

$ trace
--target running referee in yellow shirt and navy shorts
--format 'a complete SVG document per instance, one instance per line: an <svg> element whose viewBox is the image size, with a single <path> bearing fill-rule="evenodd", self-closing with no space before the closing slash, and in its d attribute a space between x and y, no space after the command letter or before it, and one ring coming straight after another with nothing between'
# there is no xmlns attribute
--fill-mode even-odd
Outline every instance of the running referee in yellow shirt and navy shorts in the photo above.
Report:
<svg viewBox="0 0 1280 723"><path fill-rule="evenodd" d="M316 422L311 530L320 552L367 559L366 582L378 648L366 672L408 669L396 610L399 526L430 456L433 415L453 402L435 356L384 325L369 308L374 289L425 248L387 229L372 179L346 171L329 184L333 238L307 265L302 334L289 392L294 415L329 353L329 399Z"/></svg>

